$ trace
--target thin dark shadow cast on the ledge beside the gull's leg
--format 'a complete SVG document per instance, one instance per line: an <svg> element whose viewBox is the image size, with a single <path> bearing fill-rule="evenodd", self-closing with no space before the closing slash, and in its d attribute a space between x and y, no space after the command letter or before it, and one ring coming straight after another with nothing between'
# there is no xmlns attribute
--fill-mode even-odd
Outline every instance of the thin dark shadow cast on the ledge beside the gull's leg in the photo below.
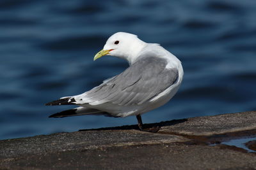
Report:
<svg viewBox="0 0 256 170"><path fill-rule="evenodd" d="M188 121L187 118L182 118L178 120L169 120L154 124L143 124L143 127L150 128L150 127L164 127L164 126L170 126L170 125L176 125L181 124L183 122ZM131 130L131 129L139 129L138 125L124 125L124 126L117 126L117 127L102 127L99 129L81 129L79 131L108 131L108 130Z"/></svg>

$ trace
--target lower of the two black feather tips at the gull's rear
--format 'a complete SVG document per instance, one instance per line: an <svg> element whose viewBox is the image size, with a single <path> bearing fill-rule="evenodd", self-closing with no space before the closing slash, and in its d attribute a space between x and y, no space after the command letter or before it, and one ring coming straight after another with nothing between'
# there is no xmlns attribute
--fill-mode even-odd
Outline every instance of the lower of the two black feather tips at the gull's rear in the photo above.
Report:
<svg viewBox="0 0 256 170"><path fill-rule="evenodd" d="M92 108L78 107L72 110L65 110L59 113L55 113L49 117L60 118L60 117L74 117L74 116L80 116L80 115L105 115L105 114L106 112L104 111L100 111Z"/></svg>

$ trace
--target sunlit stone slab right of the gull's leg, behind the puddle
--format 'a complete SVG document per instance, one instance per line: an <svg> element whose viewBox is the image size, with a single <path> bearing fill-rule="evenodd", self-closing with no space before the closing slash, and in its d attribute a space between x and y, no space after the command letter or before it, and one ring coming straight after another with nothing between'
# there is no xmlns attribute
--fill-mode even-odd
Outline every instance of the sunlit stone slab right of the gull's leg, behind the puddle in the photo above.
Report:
<svg viewBox="0 0 256 170"><path fill-rule="evenodd" d="M210 136L253 129L256 129L256 111L188 118L188 121L180 124L162 127L161 132Z"/></svg>

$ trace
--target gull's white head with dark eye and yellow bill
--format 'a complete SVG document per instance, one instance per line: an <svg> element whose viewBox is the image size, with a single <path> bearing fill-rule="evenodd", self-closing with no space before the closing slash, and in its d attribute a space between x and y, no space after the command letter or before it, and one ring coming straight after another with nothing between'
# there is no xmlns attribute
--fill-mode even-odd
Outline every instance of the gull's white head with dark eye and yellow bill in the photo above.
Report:
<svg viewBox="0 0 256 170"><path fill-rule="evenodd" d="M136 35L127 32L116 32L104 45L103 50L97 53L93 60L99 59L103 55L112 55L122 59L128 60L131 64L141 49L146 45Z"/></svg>

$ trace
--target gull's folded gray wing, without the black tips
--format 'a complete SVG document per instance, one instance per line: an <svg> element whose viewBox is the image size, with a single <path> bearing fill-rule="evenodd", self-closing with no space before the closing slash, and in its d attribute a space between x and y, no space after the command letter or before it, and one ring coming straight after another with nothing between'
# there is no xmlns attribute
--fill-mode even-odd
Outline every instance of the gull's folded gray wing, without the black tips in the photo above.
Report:
<svg viewBox="0 0 256 170"><path fill-rule="evenodd" d="M159 57L143 57L106 83L75 97L77 104L143 104L177 80L178 70L166 69L166 64Z"/></svg>

